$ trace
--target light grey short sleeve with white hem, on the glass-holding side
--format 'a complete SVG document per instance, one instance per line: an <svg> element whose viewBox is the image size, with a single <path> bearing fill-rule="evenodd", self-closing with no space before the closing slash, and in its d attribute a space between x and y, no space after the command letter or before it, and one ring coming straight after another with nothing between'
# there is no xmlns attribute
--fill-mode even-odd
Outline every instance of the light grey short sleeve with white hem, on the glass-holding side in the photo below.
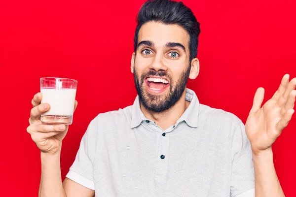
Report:
<svg viewBox="0 0 296 197"><path fill-rule="evenodd" d="M70 167L67 178L94 190L93 163L97 139L97 121L93 119L84 133L75 161Z"/></svg>

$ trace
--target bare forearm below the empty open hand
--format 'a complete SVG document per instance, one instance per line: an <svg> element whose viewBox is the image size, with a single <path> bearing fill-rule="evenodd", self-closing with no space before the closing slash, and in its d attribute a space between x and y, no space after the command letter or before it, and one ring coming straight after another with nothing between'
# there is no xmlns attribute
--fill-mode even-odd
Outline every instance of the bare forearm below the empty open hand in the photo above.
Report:
<svg viewBox="0 0 296 197"><path fill-rule="evenodd" d="M273 165L271 148L260 154L253 153L253 162L255 169L255 196L285 197Z"/></svg>

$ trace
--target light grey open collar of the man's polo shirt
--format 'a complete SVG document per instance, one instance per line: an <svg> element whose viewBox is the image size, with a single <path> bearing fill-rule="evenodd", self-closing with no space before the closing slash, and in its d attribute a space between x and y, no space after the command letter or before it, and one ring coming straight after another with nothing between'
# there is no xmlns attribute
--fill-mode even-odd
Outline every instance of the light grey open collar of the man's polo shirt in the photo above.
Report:
<svg viewBox="0 0 296 197"><path fill-rule="evenodd" d="M179 118L176 124L179 124L182 121L189 127L197 128L198 126L198 111L199 111L199 100L193 90L186 88L185 100L189 101L190 104ZM131 129L138 127L143 121L148 120L143 114L140 107L139 96L137 95L134 104L132 106L132 120L131 120Z"/></svg>

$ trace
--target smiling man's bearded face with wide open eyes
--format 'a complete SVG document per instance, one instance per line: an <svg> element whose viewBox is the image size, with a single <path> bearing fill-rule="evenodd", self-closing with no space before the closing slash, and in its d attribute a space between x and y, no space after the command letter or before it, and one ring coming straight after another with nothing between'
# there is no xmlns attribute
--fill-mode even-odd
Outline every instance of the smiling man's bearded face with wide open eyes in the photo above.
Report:
<svg viewBox="0 0 296 197"><path fill-rule="evenodd" d="M132 72L148 110L165 111L184 93L190 72L188 41L189 34L178 25L148 22L141 27Z"/></svg>

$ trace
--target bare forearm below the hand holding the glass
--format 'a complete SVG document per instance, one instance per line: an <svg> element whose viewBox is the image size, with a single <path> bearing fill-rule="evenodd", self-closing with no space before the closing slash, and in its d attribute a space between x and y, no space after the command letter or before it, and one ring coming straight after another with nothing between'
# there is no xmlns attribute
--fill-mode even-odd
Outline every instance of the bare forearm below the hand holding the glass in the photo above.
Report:
<svg viewBox="0 0 296 197"><path fill-rule="evenodd" d="M61 148L54 155L41 152L41 180L39 197L67 197L61 177Z"/></svg>

